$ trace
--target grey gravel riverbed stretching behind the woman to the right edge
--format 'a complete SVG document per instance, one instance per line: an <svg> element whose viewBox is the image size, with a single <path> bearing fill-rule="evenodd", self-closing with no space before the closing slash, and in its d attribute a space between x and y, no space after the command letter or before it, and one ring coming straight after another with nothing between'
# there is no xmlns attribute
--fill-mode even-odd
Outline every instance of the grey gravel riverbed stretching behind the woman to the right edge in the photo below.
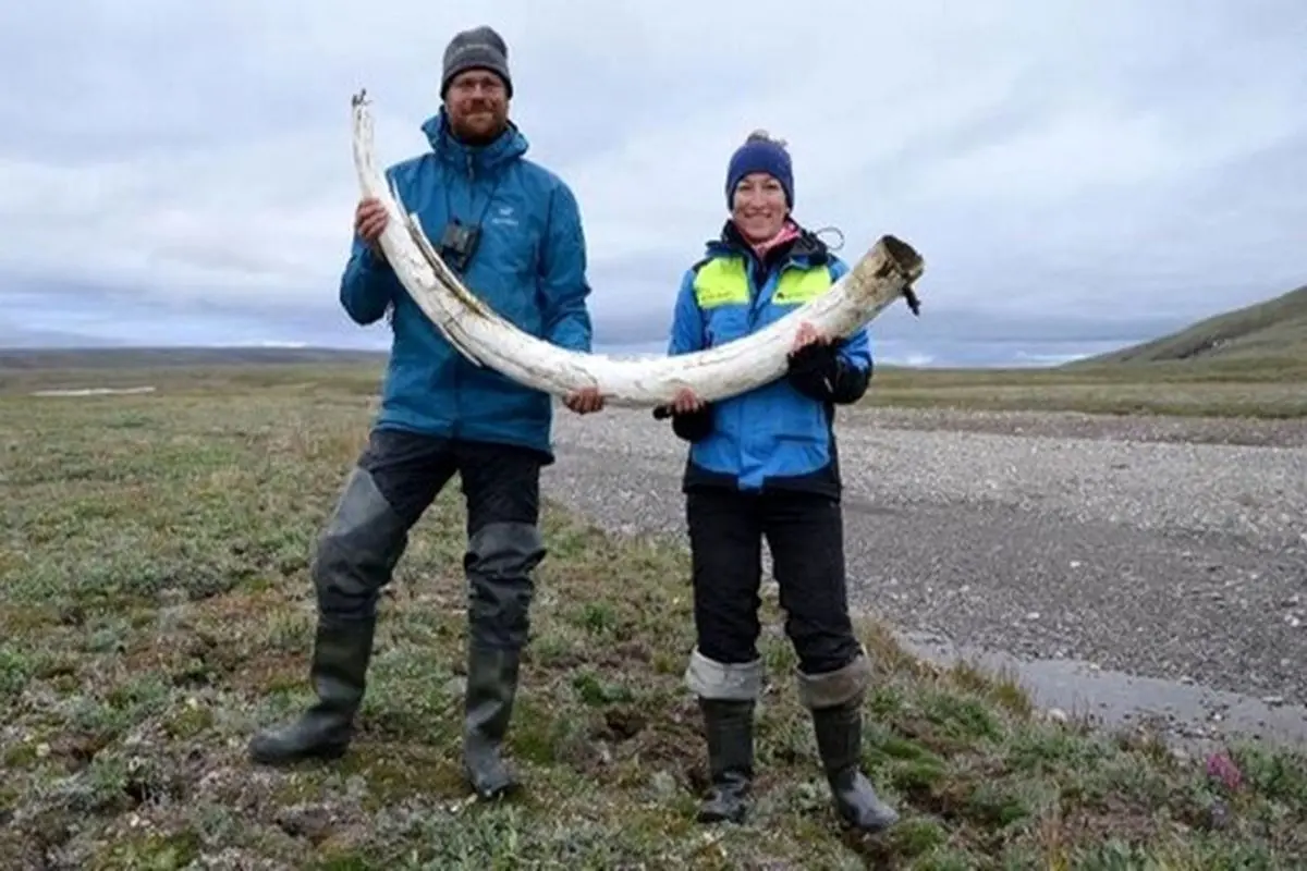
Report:
<svg viewBox="0 0 1307 871"><path fill-rule="evenodd" d="M682 535L667 426L555 419L549 496ZM838 434L859 607L968 648L1307 701L1307 423L868 410Z"/></svg>

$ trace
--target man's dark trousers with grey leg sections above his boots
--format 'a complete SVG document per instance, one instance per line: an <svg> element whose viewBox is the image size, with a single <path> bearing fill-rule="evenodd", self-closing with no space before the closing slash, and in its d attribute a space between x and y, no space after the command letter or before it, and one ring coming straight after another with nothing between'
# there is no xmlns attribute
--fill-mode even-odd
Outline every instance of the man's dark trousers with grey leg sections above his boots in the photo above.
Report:
<svg viewBox="0 0 1307 871"><path fill-rule="evenodd" d="M469 622L473 644L519 649L545 556L540 521L544 457L527 448L374 430L323 531L314 560L319 612L375 619L382 589L409 530L459 474L467 503Z"/></svg>

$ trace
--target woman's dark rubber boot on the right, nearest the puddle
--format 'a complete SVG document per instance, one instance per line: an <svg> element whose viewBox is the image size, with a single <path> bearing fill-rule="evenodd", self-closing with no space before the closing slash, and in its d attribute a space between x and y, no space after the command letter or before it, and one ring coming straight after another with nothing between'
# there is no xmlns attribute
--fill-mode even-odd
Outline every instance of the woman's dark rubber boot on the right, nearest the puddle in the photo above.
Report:
<svg viewBox="0 0 1307 871"><path fill-rule="evenodd" d="M840 819L864 832L884 832L898 814L863 774L863 710L859 699L812 712L817 750Z"/></svg>

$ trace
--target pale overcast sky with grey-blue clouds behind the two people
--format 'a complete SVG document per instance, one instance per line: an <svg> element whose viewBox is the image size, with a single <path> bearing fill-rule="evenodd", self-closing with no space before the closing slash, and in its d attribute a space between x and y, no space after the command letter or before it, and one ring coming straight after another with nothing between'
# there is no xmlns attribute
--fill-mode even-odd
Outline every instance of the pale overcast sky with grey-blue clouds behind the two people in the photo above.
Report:
<svg viewBox="0 0 1307 871"><path fill-rule="evenodd" d="M384 347L337 302L349 98L383 162L423 150L477 24L580 201L605 349L661 349L755 127L843 256L925 257L885 359L1061 359L1307 282L1303 0L10 3L0 345Z"/></svg>

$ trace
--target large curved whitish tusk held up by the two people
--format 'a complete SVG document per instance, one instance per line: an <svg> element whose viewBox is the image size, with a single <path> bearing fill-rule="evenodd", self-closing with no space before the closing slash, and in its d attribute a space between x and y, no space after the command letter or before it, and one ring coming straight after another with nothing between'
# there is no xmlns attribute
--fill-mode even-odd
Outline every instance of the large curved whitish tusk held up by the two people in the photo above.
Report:
<svg viewBox="0 0 1307 871"><path fill-rule="evenodd" d="M669 404L681 388L690 388L711 402L782 376L802 321L830 336L848 336L899 296L914 313L919 311L912 282L924 272L924 261L907 243L882 236L827 293L752 336L714 349L647 359L579 354L550 345L499 317L450 270L417 215L404 210L376 167L366 91L356 94L352 104L359 188L389 213L380 247L400 283L460 354L527 387L559 397L596 387L609 405L637 407Z"/></svg>

